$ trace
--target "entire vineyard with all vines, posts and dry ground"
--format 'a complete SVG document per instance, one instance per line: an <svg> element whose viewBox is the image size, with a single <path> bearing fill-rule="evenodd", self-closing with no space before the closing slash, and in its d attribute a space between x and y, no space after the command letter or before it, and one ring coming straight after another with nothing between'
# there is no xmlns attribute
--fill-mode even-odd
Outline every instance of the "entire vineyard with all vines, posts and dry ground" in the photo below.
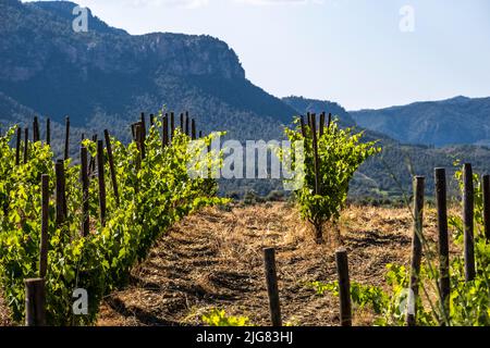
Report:
<svg viewBox="0 0 490 348"><path fill-rule="evenodd" d="M191 144L210 148L218 134L197 134L187 113L179 126L174 113L146 121L128 145L108 130L83 138L78 159L69 119L63 160L49 121L46 139L37 119L32 139L28 128L2 135L0 284L13 324L490 324L490 176L470 164L454 178L462 203L436 169L434 207L421 176L405 208L348 207L354 173L382 149L311 113L285 128L305 149L294 202L246 206L188 173L206 150ZM88 306L75 312L81 289Z"/></svg>

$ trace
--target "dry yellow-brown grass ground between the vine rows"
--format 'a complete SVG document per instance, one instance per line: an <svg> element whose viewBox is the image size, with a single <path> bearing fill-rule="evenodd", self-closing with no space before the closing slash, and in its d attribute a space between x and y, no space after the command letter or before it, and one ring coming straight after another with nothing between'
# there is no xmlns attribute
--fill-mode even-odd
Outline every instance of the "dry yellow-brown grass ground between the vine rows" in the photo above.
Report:
<svg viewBox="0 0 490 348"><path fill-rule="evenodd" d="M425 231L436 233L436 214L428 210ZM277 249L282 315L296 325L336 325L338 300L306 286L334 281L334 250L342 235L351 277L384 284L388 263L407 264L412 215L407 209L351 207L340 227L330 226L324 245L313 241L309 228L287 203L207 209L186 217L162 237L150 258L133 272L131 286L105 302L99 325L198 325L209 308L246 315L269 324L262 248ZM373 315L358 311L356 325Z"/></svg>

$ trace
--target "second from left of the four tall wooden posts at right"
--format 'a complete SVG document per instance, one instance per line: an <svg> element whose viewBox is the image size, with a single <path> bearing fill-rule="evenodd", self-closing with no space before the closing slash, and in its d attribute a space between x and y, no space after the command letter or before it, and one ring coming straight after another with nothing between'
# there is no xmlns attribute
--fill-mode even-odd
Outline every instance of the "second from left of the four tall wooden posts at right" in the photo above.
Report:
<svg viewBox="0 0 490 348"><path fill-rule="evenodd" d="M449 315L450 306L450 260L449 260L449 235L448 235L448 199L445 170L437 167L436 178L436 201L438 207L438 232L439 232L439 291L441 293L441 306L444 316Z"/></svg>

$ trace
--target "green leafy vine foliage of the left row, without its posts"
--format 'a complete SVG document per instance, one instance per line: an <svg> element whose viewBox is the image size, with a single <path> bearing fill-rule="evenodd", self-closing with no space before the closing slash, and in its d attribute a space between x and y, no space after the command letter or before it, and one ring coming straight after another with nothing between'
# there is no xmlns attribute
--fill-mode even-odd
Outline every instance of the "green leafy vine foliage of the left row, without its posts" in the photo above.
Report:
<svg viewBox="0 0 490 348"><path fill-rule="evenodd" d="M188 150L189 137L175 133L172 146L162 148L158 129L150 128L145 141L146 157L140 159L136 144L124 146L112 138L120 204L106 175L107 219L98 219L98 183L89 186L90 234L81 236L82 185L79 165L65 161L68 216L54 222L53 154L49 146L29 144L29 161L15 165L15 149L9 144L13 128L0 138L0 285L12 309L13 320L24 316L24 278L38 275L40 239L40 176L49 174L49 253L47 314L51 325L94 323L101 298L128 279L132 266L144 260L155 240L185 215L224 199L215 197L217 184L210 178L189 177L186 163L195 156ZM213 135L205 138L210 144ZM96 144L84 140L91 153ZM105 153L107 157L107 153ZM208 154L206 160L211 161ZM140 163L140 165L136 165ZM139 169L137 169L139 167ZM106 161L106 173L109 163ZM73 290L88 293L88 315L72 312Z"/></svg>

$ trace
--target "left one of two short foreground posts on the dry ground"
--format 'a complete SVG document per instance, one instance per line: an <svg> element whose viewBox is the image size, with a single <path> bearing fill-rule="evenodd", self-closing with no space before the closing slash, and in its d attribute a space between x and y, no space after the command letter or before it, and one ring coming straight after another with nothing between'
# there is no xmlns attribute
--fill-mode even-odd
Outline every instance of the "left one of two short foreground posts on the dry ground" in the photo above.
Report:
<svg viewBox="0 0 490 348"><path fill-rule="evenodd" d="M266 265L267 291L269 294L270 319L272 326L282 326L274 248L264 249L264 260Z"/></svg>

